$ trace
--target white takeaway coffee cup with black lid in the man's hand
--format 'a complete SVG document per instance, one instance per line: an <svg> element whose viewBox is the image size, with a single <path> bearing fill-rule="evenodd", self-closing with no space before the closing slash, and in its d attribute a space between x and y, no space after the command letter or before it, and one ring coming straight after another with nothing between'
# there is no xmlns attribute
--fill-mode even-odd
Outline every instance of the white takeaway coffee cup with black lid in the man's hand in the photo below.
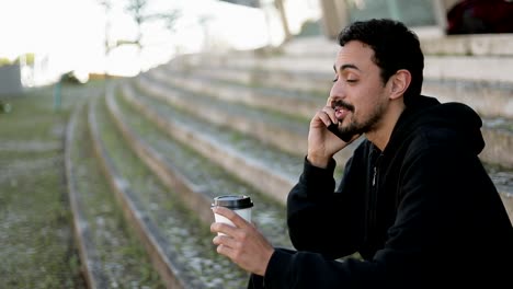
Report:
<svg viewBox="0 0 513 289"><path fill-rule="evenodd" d="M249 196L241 195L224 195L214 198L213 207L226 207L233 210L248 222L251 222L251 209L253 208L253 201ZM224 222L235 226L230 220L224 216L214 213L216 222Z"/></svg>

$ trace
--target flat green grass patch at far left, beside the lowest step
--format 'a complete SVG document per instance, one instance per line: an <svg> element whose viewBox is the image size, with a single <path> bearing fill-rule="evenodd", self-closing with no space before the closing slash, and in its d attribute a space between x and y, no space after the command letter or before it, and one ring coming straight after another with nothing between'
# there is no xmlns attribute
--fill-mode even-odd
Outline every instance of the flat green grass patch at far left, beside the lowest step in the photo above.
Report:
<svg viewBox="0 0 513 289"><path fill-rule="evenodd" d="M0 114L2 288L86 288L72 240L64 148L41 149L62 142L73 94L81 89L89 88L66 86L58 111L52 88L2 97L11 105Z"/></svg>

